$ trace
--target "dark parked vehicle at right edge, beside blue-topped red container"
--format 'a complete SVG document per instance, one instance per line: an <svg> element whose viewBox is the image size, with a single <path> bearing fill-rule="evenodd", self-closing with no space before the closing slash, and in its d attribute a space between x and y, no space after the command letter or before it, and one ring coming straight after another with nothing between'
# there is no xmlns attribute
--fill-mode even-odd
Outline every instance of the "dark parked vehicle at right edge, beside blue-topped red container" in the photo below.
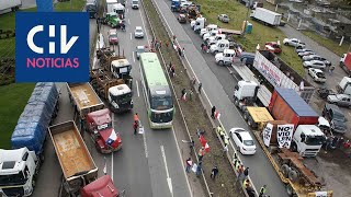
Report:
<svg viewBox="0 0 351 197"><path fill-rule="evenodd" d="M339 134L344 134L347 131L347 119L337 105L326 103L321 115L330 121L332 131Z"/></svg>

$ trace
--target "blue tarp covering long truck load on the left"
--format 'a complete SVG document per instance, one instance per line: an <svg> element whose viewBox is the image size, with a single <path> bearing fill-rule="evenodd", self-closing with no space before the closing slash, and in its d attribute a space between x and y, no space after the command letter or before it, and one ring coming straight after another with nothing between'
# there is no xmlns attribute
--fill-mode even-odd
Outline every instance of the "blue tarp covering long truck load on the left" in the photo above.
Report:
<svg viewBox="0 0 351 197"><path fill-rule="evenodd" d="M27 147L42 153L46 130L52 120L58 91L55 83L37 83L11 137L13 149Z"/></svg>

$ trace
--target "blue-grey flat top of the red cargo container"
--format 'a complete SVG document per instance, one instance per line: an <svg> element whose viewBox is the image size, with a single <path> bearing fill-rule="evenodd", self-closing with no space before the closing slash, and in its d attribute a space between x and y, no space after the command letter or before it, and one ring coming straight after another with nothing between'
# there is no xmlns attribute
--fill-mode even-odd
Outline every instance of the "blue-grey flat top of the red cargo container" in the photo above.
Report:
<svg viewBox="0 0 351 197"><path fill-rule="evenodd" d="M318 116L318 114L293 89L275 88L276 93L297 116Z"/></svg>

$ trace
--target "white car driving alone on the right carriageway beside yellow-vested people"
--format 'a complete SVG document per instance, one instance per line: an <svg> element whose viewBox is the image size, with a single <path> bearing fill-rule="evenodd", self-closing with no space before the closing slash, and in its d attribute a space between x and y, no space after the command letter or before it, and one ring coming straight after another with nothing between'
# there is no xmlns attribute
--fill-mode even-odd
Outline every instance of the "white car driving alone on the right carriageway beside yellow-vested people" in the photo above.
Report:
<svg viewBox="0 0 351 197"><path fill-rule="evenodd" d="M229 135L241 154L256 153L256 144L249 131L246 131L244 128L231 128Z"/></svg>

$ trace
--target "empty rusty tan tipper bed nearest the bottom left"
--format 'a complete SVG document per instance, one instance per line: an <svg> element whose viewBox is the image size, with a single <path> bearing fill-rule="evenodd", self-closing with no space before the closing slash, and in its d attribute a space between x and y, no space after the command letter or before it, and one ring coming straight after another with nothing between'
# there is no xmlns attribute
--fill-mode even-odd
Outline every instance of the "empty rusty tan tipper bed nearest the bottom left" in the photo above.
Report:
<svg viewBox="0 0 351 197"><path fill-rule="evenodd" d="M76 194L86 184L97 179L98 167L75 121L50 126L48 134L63 170L64 188L68 194Z"/></svg>

